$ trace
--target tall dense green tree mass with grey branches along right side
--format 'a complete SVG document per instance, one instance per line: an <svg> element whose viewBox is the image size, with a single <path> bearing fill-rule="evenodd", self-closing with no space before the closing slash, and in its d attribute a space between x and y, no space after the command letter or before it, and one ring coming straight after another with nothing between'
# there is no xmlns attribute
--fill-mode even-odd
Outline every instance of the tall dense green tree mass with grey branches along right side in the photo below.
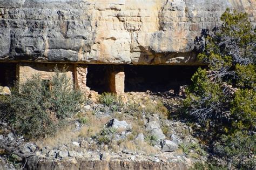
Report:
<svg viewBox="0 0 256 170"><path fill-rule="evenodd" d="M250 162L255 154L248 148L255 144L256 34L246 13L227 9L221 21L220 28L208 32L205 50L198 56L208 67L193 75L183 111L201 125L200 137L215 155L250 168L239 162L248 155ZM218 152L216 144L222 148Z"/></svg>

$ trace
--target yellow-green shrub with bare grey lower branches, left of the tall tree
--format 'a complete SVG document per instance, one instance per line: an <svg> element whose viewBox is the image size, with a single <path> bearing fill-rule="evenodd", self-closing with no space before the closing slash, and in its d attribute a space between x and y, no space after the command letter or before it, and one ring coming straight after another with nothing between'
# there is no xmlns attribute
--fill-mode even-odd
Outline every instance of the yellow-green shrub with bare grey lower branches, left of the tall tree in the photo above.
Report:
<svg viewBox="0 0 256 170"><path fill-rule="evenodd" d="M208 118L218 119L225 112L225 94L219 83L207 77L207 71L201 68L192 77L193 84L186 89L184 100L186 113L196 117L201 123Z"/></svg>

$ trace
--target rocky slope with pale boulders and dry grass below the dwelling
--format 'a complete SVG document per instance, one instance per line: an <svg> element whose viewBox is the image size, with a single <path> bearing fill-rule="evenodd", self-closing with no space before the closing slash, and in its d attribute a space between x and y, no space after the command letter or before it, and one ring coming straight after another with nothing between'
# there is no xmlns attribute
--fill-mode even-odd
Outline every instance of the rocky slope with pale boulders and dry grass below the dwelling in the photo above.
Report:
<svg viewBox="0 0 256 170"><path fill-rule="evenodd" d="M0 169L21 162L25 169L188 169L207 153L191 127L167 119L166 107L176 110L181 99L131 92L118 107L88 101L54 137L36 141L3 130L0 141L19 143L18 153L33 156L21 161L0 154Z"/></svg>

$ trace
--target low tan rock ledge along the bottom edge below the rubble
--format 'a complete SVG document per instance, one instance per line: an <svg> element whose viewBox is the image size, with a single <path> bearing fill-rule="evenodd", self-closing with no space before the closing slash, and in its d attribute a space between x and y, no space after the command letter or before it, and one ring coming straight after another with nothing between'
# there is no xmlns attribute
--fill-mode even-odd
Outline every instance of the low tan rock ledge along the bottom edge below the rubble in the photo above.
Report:
<svg viewBox="0 0 256 170"><path fill-rule="evenodd" d="M25 169L188 169L181 162L153 162L129 160L76 160L66 162L52 162L50 160L31 158Z"/></svg>

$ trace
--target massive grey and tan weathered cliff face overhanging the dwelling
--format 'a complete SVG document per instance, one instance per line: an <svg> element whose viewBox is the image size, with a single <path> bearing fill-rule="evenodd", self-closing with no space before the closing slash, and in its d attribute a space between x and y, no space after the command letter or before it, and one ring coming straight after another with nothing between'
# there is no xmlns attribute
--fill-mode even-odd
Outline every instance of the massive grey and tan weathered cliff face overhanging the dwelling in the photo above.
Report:
<svg viewBox="0 0 256 170"><path fill-rule="evenodd" d="M194 39L253 0L0 0L0 61L196 65Z"/></svg>

